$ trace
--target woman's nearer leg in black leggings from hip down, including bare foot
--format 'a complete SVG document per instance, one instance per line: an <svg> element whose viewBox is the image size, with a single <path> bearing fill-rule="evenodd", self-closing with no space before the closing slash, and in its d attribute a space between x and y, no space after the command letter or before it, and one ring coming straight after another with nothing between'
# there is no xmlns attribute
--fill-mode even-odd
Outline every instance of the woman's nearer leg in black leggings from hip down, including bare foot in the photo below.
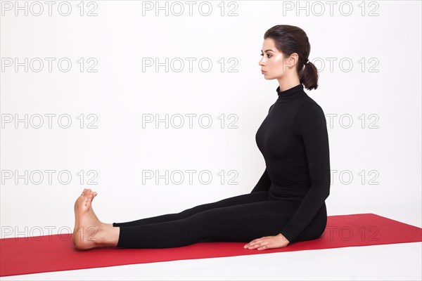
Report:
<svg viewBox="0 0 422 281"><path fill-rule="evenodd" d="M96 192L84 190L75 202L75 228L72 235L77 249L94 247L166 248L211 241L250 242L277 235L300 202L262 201L235 204L199 211L175 221L143 226L113 227L101 223L91 208ZM325 204L295 241L318 238L326 227Z"/></svg>

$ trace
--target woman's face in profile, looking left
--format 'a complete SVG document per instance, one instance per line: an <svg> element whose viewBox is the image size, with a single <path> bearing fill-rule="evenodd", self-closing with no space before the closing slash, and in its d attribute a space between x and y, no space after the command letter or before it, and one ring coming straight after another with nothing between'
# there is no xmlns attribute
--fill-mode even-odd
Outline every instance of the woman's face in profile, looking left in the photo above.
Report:
<svg viewBox="0 0 422 281"><path fill-rule="evenodd" d="M293 69L294 60L284 58L283 53L276 49L274 40L271 38L264 40L261 55L259 65L265 79L282 79Z"/></svg>

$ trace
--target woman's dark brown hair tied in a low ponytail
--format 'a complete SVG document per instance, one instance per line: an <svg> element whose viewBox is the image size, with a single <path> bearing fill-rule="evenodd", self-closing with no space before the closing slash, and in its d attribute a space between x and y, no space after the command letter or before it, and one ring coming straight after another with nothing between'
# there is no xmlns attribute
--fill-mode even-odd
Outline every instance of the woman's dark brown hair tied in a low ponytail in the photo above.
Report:
<svg viewBox="0 0 422 281"><path fill-rule="evenodd" d="M271 27L264 34L264 39L271 38L276 44L276 48L288 57L292 53L298 53L299 60L296 71L306 89L318 88L318 71L313 63L308 60L311 45L305 31L293 25L276 25Z"/></svg>

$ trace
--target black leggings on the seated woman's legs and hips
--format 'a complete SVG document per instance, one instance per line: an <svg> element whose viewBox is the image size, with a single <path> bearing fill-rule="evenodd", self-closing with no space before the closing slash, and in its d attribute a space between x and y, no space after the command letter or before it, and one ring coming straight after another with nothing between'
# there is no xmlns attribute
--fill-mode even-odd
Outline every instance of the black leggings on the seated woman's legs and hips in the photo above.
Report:
<svg viewBox="0 0 422 281"><path fill-rule="evenodd" d="M299 205L300 202L269 200L267 191L259 191L201 204L177 214L113 223L113 226L120 227L117 247L124 248L170 248L207 241L250 242L278 235ZM320 237L326 223L324 203L294 241Z"/></svg>

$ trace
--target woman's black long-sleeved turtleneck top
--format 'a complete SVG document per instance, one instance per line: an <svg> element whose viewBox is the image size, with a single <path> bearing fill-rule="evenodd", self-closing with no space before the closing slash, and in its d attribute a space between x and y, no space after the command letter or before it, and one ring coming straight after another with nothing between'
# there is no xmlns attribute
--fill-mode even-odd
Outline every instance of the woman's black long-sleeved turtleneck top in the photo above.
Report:
<svg viewBox="0 0 422 281"><path fill-rule="evenodd" d="M269 200L298 202L280 233L290 242L306 228L330 194L330 157L326 118L298 84L269 107L256 133L266 169L251 192L266 190Z"/></svg>

